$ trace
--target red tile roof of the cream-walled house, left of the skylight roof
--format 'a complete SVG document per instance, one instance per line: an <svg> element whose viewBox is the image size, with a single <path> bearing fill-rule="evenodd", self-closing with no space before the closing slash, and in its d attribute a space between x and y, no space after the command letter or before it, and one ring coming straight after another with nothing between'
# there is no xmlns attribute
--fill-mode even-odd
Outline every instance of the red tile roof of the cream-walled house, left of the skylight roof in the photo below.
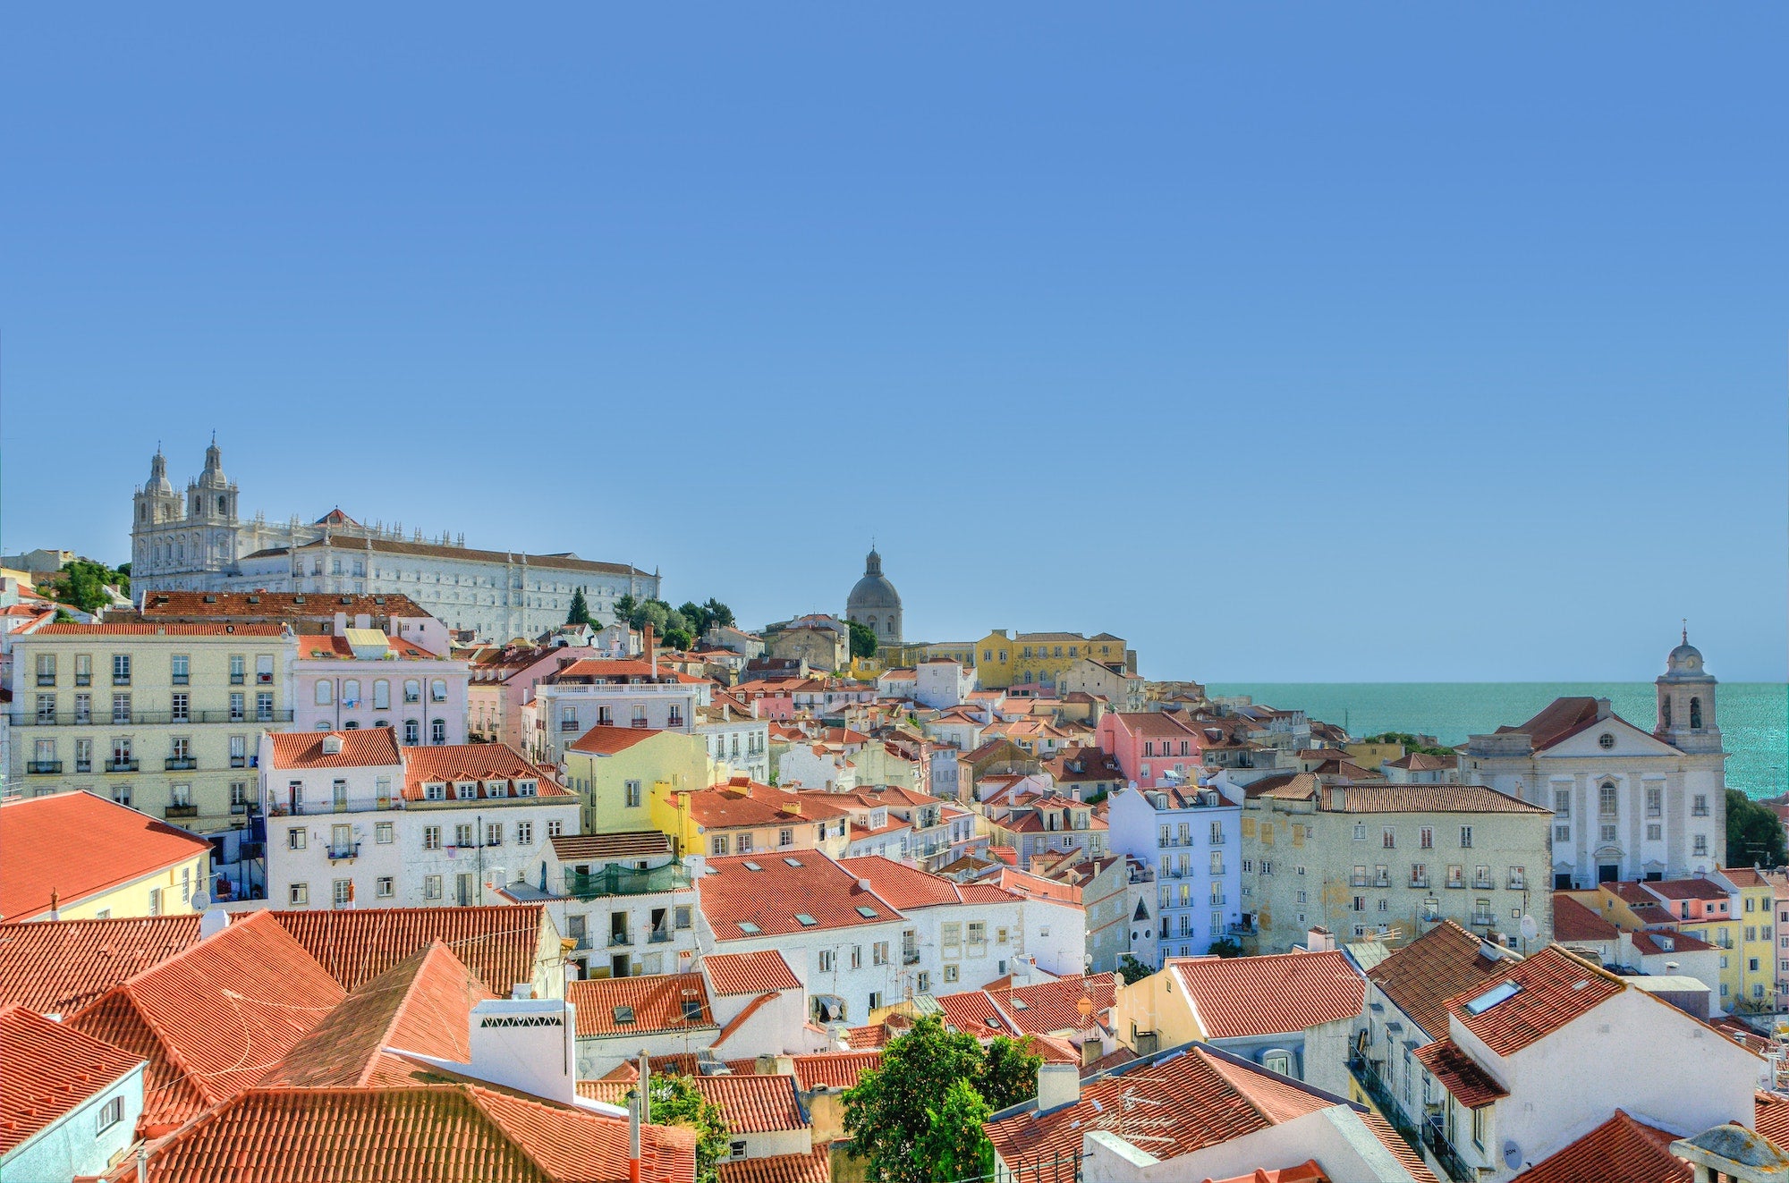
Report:
<svg viewBox="0 0 1789 1183"><path fill-rule="evenodd" d="M1206 1038L1290 1035L1367 1004L1367 979L1340 949L1258 958L1191 958L1168 963Z"/></svg>

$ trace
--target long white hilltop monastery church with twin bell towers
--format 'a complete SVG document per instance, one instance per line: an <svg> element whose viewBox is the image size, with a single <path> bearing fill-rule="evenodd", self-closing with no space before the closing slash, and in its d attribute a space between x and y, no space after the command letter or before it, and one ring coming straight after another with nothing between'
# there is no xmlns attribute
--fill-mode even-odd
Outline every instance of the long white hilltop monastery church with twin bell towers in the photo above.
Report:
<svg viewBox="0 0 1789 1183"><path fill-rule="evenodd" d="M243 522L213 436L204 472L184 495L174 491L168 459L156 449L148 484L132 499L131 592L138 604L150 592L403 593L449 629L508 642L565 624L578 592L608 622L623 595L658 599L658 575L569 550L478 550L465 534L404 538L399 524L365 525L342 509L315 522L268 522L259 513Z"/></svg>

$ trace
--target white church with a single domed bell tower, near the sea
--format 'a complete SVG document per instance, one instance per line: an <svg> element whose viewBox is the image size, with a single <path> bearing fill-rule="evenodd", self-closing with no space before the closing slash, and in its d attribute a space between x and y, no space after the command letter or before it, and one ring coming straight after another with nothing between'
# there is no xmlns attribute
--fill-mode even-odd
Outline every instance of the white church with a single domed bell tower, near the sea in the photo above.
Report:
<svg viewBox="0 0 1789 1183"><path fill-rule="evenodd" d="M1526 724L1471 736L1460 754L1463 783L1553 810L1555 890L1680 879L1726 863L1716 683L1687 625L1653 684L1651 731L1615 715L1608 699L1555 699Z"/></svg>

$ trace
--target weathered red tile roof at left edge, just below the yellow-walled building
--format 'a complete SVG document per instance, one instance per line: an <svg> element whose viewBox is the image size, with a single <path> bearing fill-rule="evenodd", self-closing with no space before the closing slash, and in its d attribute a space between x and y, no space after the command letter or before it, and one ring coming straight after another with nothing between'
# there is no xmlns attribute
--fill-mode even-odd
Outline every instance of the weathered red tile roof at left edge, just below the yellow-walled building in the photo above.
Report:
<svg viewBox="0 0 1789 1183"><path fill-rule="evenodd" d="M0 1004L70 1015L197 944L197 915L0 924Z"/></svg>

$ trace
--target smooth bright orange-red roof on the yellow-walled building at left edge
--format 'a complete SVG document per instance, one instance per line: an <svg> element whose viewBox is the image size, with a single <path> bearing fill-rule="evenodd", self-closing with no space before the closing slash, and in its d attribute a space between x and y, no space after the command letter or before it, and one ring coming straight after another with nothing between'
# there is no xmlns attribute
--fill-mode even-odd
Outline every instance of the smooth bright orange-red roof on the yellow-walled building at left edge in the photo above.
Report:
<svg viewBox="0 0 1789 1183"><path fill-rule="evenodd" d="M70 906L211 852L184 829L88 792L0 802L0 920L47 917L50 897ZM206 867L199 883L206 886ZM172 895L172 892L168 894ZM170 901L170 908L179 906Z"/></svg>

